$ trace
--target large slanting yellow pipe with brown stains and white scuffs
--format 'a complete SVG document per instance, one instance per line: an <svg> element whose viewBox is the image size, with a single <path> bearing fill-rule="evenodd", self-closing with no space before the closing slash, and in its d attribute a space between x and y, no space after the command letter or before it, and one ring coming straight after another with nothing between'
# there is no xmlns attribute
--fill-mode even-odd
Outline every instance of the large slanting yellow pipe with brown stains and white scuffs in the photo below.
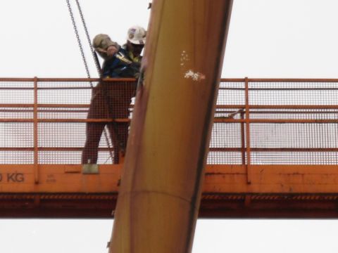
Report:
<svg viewBox="0 0 338 253"><path fill-rule="evenodd" d="M109 252L191 252L231 8L153 1Z"/></svg>

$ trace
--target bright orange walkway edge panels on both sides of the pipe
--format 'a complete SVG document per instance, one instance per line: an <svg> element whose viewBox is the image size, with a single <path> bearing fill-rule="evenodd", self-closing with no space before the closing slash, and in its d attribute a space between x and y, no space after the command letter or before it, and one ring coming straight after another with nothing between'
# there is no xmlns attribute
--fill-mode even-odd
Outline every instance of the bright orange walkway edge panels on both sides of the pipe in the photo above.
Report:
<svg viewBox="0 0 338 253"><path fill-rule="evenodd" d="M99 165L99 174L82 174L81 164L39 164L35 185L34 164L1 164L0 195L4 193L112 193L118 192L123 164ZM175 168L173 168L175 169ZM204 193L337 193L337 165L251 164L206 167Z"/></svg>

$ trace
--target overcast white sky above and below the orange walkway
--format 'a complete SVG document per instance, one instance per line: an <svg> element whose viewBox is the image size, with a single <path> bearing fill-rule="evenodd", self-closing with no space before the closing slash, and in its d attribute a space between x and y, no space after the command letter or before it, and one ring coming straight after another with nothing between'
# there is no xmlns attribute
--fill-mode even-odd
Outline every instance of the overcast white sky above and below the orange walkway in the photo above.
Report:
<svg viewBox="0 0 338 253"><path fill-rule="evenodd" d="M147 26L149 1L81 4L92 37L123 44L128 27ZM234 0L222 76L337 78L337 10L337 0ZM86 77L65 0L1 1L0 24L0 77ZM111 220L0 220L0 252L107 252L111 228ZM337 232L330 220L199 220L193 252L337 252Z"/></svg>

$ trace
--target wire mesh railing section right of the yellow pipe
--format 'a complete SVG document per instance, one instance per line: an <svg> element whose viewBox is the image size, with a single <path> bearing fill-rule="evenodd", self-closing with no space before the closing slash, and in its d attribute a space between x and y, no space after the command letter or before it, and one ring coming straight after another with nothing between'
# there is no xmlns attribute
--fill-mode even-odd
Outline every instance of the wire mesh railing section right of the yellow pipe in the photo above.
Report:
<svg viewBox="0 0 338 253"><path fill-rule="evenodd" d="M337 80L223 79L218 108L210 164L338 163Z"/></svg>

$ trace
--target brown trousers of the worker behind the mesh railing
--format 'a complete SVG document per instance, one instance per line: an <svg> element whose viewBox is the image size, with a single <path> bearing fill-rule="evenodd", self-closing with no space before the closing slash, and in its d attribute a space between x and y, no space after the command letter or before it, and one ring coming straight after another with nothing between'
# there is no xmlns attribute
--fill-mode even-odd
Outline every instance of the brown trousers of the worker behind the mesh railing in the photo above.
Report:
<svg viewBox="0 0 338 253"><path fill-rule="evenodd" d="M87 119L127 119L136 87L137 82L101 82L93 90ZM87 122L82 164L97 163L99 143L106 125L113 143L113 163L118 164L119 153L125 153L129 123Z"/></svg>

